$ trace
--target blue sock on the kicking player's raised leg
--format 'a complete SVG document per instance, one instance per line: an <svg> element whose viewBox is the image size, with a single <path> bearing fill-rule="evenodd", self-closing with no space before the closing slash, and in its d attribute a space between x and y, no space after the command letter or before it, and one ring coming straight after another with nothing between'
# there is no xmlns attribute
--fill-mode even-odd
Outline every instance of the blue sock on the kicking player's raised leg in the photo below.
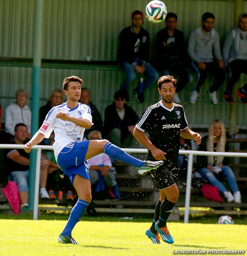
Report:
<svg viewBox="0 0 247 256"><path fill-rule="evenodd" d="M107 154L109 157L117 159L119 161L125 162L127 164L131 164L135 167L142 167L144 165L144 161L141 161L137 158L130 156L125 153L121 148L116 145L110 143L109 141L105 144L103 152Z"/></svg>

